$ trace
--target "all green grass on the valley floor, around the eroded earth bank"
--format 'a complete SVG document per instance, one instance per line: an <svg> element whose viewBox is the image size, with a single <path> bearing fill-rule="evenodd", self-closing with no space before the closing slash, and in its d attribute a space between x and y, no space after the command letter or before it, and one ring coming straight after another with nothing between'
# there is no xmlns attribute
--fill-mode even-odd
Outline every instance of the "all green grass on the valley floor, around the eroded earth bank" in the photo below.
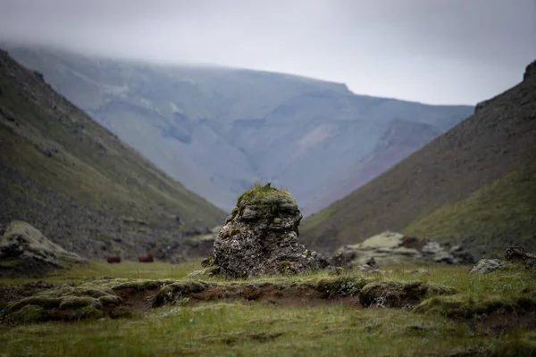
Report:
<svg viewBox="0 0 536 357"><path fill-rule="evenodd" d="M91 262L74 270L54 274L45 280L82 282L106 276L131 281L149 278L188 281L185 276L198 267L197 261L178 265ZM179 303L136 311L128 319L42 322L15 327L0 325L0 356L536 354L536 326L531 322L536 320L534 309L525 306L523 310L519 303L508 303L521 301L521 298L532 299L532 307L536 307L536 277L533 272L504 270L482 276L468 274L468 267L444 265L420 267L428 270L428 274L423 275L407 272L414 268L388 267L389 271L381 277L373 275L367 278L395 285L421 281L452 286L457 294L444 297L443 300L448 300L444 305L445 311L455 311L452 309L455 305L465 309L465 312L472 309L476 311L486 302L495 305L487 313L467 319L459 313L438 313L437 308L427 311L424 303L415 309L364 308L357 302L348 304L348 300L339 303L329 299L325 303L294 305L239 300L231 302L225 299L193 305ZM350 271L343 277L334 277L322 272L288 278L204 280L205 283L219 286L247 286L255 283L259 286L268 283L312 286L335 283L343 278L360 278L360 274ZM2 280L3 286L19 283L21 280ZM425 298L428 297L430 296ZM500 305L498 302L504 303ZM443 305L435 306L440 306L441 309Z"/></svg>

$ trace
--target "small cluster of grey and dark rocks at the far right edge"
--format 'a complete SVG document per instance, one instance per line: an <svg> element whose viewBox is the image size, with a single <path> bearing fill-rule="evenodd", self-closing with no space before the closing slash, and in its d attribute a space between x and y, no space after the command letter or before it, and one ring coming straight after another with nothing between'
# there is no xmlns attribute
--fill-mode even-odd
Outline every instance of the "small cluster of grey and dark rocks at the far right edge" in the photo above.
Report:
<svg viewBox="0 0 536 357"><path fill-rule="evenodd" d="M515 245L505 251L504 261L500 259L481 259L469 272L472 274L489 274L505 268L534 269L536 268L536 255L526 253L521 245Z"/></svg>

